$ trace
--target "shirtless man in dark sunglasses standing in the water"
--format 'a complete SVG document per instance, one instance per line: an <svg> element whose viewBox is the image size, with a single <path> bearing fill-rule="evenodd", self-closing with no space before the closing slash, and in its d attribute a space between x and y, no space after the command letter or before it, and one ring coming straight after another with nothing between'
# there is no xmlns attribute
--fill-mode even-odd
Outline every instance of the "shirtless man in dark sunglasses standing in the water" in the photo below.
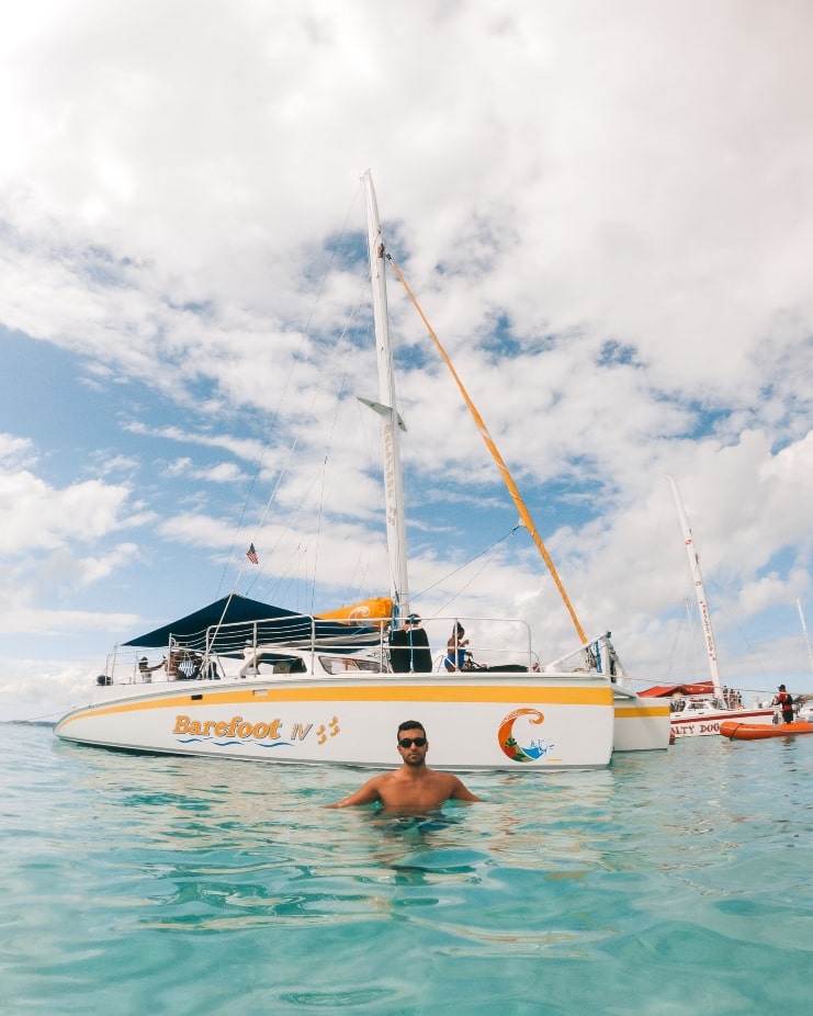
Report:
<svg viewBox="0 0 813 1016"><path fill-rule="evenodd" d="M355 793L328 804L328 808L348 808L351 804L372 804L375 801L386 809L426 810L439 808L444 801L482 801L451 772L439 772L427 766L429 742L422 724L405 720L398 727L400 769L374 776Z"/></svg>

